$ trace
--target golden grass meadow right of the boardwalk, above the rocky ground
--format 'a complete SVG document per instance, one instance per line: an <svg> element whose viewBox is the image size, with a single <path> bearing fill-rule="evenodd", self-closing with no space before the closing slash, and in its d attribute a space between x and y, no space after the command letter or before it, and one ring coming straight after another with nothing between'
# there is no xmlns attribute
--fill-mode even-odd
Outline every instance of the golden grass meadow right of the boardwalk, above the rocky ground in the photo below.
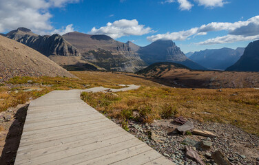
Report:
<svg viewBox="0 0 259 165"><path fill-rule="evenodd" d="M259 135L259 91L256 89L174 89L143 86L136 91L83 94L83 100L112 118L152 122L168 115L183 115L201 122L233 124ZM137 116L134 116L134 113Z"/></svg>

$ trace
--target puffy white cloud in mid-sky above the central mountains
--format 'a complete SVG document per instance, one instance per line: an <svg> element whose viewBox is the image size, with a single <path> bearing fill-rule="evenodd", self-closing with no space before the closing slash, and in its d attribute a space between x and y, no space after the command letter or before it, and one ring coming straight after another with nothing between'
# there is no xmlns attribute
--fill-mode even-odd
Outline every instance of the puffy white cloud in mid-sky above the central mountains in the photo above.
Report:
<svg viewBox="0 0 259 165"><path fill-rule="evenodd" d="M107 23L106 26L101 28L92 28L90 34L106 34L112 39L120 38L121 36L141 36L154 32L151 28L145 28L145 25L138 25L136 19L127 20L121 19L114 21L114 23Z"/></svg>

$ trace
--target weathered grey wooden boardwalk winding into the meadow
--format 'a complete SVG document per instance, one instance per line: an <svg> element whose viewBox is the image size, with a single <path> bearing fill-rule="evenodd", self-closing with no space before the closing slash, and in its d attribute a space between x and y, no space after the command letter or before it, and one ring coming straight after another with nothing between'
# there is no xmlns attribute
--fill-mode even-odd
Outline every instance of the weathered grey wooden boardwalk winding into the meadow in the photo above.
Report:
<svg viewBox="0 0 259 165"><path fill-rule="evenodd" d="M174 164L83 102L80 93L52 91L30 103L16 165Z"/></svg>

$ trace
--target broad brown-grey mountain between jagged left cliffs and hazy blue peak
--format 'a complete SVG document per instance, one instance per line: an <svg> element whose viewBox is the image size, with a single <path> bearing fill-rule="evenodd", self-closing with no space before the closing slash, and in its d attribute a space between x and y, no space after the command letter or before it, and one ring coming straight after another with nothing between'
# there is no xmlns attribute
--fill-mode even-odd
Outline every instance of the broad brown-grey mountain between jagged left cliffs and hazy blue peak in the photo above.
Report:
<svg viewBox="0 0 259 165"><path fill-rule="evenodd" d="M63 38L74 45L85 60L107 70L136 72L146 66L136 53L137 46L115 41L110 36L70 32Z"/></svg>

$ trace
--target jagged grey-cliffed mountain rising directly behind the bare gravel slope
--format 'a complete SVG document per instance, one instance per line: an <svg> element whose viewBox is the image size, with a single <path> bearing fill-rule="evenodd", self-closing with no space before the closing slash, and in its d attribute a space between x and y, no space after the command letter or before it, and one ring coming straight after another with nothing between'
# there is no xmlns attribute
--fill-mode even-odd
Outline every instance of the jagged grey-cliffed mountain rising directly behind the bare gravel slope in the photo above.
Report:
<svg viewBox="0 0 259 165"><path fill-rule="evenodd" d="M4 36L32 47L66 69L96 69L95 66L85 61L76 47L59 34L40 36L27 28L18 28Z"/></svg>

